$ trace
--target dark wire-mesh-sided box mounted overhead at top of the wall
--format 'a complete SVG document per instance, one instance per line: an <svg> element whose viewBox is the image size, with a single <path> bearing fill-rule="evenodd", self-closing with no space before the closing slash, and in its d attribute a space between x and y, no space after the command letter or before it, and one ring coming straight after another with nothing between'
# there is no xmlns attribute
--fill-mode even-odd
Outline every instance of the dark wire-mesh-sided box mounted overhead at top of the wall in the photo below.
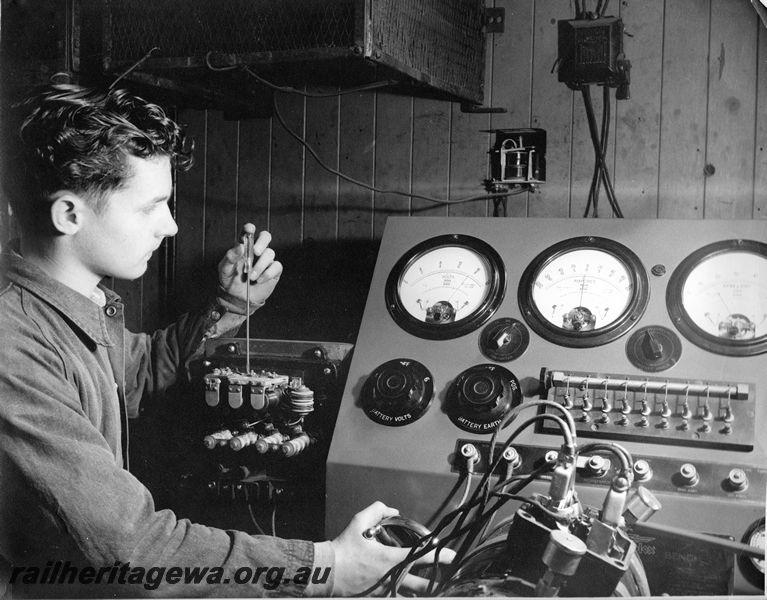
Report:
<svg viewBox="0 0 767 600"><path fill-rule="evenodd" d="M106 70L344 57L482 102L484 0L103 0ZM359 65L359 70L363 65ZM369 69L367 69L369 71Z"/></svg>

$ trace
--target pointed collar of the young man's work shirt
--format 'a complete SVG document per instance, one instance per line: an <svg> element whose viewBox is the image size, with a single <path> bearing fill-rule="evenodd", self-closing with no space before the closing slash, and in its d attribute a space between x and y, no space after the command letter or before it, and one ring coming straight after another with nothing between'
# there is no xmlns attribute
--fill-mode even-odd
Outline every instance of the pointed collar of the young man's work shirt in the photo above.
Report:
<svg viewBox="0 0 767 600"><path fill-rule="evenodd" d="M107 330L106 315L110 318L122 313L120 296L101 284L95 296L87 298L72 288L56 281L42 269L26 260L14 247L4 250L0 256L0 272L8 281L27 289L44 300L75 325L95 343L113 346ZM99 306L97 298L103 294L104 303ZM100 298L99 298L100 299Z"/></svg>

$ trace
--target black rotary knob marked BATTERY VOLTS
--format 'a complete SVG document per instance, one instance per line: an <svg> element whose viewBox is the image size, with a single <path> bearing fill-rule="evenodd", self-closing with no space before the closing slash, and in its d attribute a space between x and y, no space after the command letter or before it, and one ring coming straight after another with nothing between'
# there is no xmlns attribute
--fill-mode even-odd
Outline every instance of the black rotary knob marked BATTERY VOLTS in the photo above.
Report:
<svg viewBox="0 0 767 600"><path fill-rule="evenodd" d="M362 388L362 409L376 423L401 427L428 410L434 379L421 363L407 358L390 360L370 374Z"/></svg>

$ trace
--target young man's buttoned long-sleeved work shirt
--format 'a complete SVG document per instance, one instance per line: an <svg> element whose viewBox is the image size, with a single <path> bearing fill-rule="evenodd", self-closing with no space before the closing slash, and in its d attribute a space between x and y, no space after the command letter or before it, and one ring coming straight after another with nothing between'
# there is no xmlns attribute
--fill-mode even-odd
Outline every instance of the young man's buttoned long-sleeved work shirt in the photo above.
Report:
<svg viewBox="0 0 767 600"><path fill-rule="evenodd" d="M329 542L177 518L124 468L127 417L236 330L244 303L219 297L136 334L111 290L89 299L18 253L1 260L0 597L9 583L13 596L330 595Z"/></svg>

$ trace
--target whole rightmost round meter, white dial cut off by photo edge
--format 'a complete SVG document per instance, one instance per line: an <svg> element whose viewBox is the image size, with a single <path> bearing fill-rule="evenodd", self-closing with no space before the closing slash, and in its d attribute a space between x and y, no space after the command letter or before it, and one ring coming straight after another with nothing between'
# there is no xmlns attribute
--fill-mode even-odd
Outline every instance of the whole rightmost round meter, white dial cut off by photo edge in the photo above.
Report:
<svg viewBox="0 0 767 600"><path fill-rule="evenodd" d="M726 240L688 256L669 281L666 304L694 344L717 354L767 351L767 244Z"/></svg>

